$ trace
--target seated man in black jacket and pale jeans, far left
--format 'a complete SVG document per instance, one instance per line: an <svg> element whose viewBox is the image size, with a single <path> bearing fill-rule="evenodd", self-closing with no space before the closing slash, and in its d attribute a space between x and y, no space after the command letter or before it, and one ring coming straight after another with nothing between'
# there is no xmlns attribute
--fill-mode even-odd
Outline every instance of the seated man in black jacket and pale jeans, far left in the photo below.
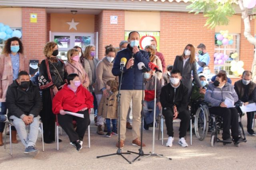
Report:
<svg viewBox="0 0 256 170"><path fill-rule="evenodd" d="M20 71L18 79L8 87L6 103L8 118L12 120L22 144L26 147L24 153L37 152L35 145L42 100L38 87L30 81L26 71ZM29 134L26 125L30 126Z"/></svg>

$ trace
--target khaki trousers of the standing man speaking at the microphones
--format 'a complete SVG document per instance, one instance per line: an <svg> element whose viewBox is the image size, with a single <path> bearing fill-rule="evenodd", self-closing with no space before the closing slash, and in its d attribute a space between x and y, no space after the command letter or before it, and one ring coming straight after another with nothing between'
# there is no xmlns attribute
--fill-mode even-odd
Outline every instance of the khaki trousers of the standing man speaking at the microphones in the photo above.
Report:
<svg viewBox="0 0 256 170"><path fill-rule="evenodd" d="M132 100L132 137L140 138L142 90L120 90L120 139L125 140L126 117Z"/></svg>

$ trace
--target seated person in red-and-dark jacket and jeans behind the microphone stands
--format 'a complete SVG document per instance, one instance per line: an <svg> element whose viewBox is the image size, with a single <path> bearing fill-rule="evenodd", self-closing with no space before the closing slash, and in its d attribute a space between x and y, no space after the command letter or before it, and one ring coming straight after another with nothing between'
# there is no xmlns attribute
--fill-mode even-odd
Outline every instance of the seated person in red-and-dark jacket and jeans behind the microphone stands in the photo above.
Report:
<svg viewBox="0 0 256 170"><path fill-rule="evenodd" d="M150 70L144 74L144 106L143 106L143 116L144 116L144 129L148 130L150 126L153 126L154 121L154 98L155 98L155 76L152 75L153 71ZM156 79L156 117L158 117L159 112L162 108L160 103L160 93L161 93L161 82ZM152 109L149 111L148 109Z"/></svg>

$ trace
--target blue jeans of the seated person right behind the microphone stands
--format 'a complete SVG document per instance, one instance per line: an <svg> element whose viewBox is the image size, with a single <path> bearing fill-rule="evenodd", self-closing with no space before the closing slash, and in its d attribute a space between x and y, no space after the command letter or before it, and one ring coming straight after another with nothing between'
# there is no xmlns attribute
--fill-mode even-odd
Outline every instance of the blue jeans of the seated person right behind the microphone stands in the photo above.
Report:
<svg viewBox="0 0 256 170"><path fill-rule="evenodd" d="M152 109L152 111L148 111L148 109ZM158 117L160 113L159 108L156 106L156 117ZM144 100L143 106L143 116L146 124L150 124L154 121L154 100L147 102Z"/></svg>

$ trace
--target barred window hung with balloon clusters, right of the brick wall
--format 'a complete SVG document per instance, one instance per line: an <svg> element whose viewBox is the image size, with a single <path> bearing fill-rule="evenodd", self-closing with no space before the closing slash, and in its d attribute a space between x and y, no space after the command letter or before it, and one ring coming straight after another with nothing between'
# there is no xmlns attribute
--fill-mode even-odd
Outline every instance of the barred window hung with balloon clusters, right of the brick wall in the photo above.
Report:
<svg viewBox="0 0 256 170"><path fill-rule="evenodd" d="M214 53L223 53L228 56L228 59L223 64L214 64L214 74L218 74L219 70L226 70L228 76L234 76L234 72L230 70L232 61L239 61L239 48L240 48L240 35L229 34L233 37L232 45L218 45L215 37L215 49ZM238 57L232 58L231 55L237 53Z"/></svg>

